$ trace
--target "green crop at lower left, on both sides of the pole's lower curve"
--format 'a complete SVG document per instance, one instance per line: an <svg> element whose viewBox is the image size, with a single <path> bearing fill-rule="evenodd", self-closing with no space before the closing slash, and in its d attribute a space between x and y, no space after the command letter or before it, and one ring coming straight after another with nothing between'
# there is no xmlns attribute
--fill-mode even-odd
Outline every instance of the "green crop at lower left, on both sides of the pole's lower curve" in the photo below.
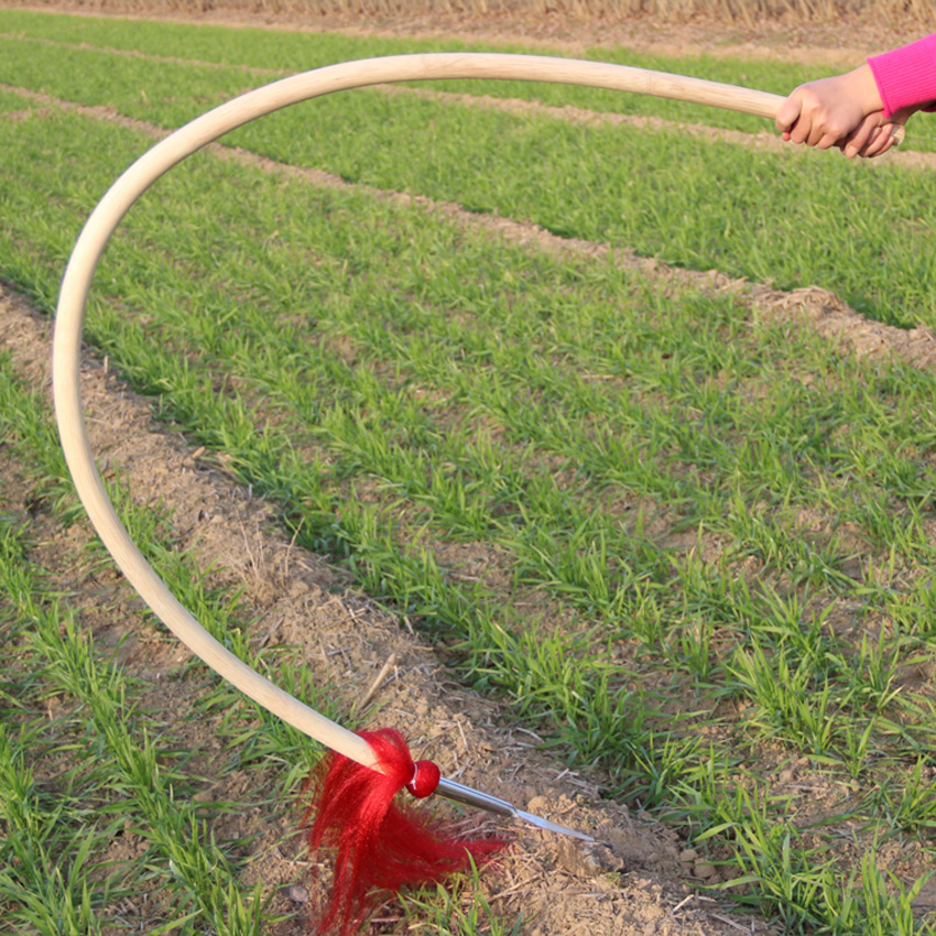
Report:
<svg viewBox="0 0 936 936"><path fill-rule="evenodd" d="M0 492L4 925L43 936L130 925L154 936L206 926L228 936L268 933L280 922L270 906L275 882L252 874L251 864L277 837L283 847L294 837L297 790L317 745L197 663L171 664L154 685L163 641L132 602L115 601L100 543L85 542L80 524L76 535L83 511L51 413L6 353L0 447L4 482L19 481L30 504L28 515L12 491ZM335 694L313 685L304 662L283 649L275 660L255 650L238 595L213 587L196 558L174 546L172 518L134 502L120 483L109 487L134 542L218 640L318 710L342 717ZM43 549L39 541L50 540L55 549ZM63 592L63 575L73 585L84 577L83 590L90 584L98 592L92 614L75 607L74 588ZM139 639L149 644L146 678L127 652ZM167 655L177 660L175 650ZM231 830L231 817L261 812L274 831L263 832L258 849L257 836ZM415 895L407 907L421 919L445 919L454 934L475 932L472 921L500 932L481 895L457 907L443 893Z"/></svg>

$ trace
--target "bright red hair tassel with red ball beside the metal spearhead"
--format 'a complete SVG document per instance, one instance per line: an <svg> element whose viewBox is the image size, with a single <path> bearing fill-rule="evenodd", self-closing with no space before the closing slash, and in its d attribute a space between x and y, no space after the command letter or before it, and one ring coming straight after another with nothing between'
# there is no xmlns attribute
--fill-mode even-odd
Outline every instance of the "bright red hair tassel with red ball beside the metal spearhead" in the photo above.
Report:
<svg viewBox="0 0 936 936"><path fill-rule="evenodd" d="M432 761L413 763L403 736L392 728L359 732L373 749L383 773L329 753L306 784L312 801L303 818L313 855L336 850L331 895L319 933L348 936L403 886L435 883L480 864L504 846L502 839L456 841L432 819L394 802L405 786L428 796L438 785Z"/></svg>

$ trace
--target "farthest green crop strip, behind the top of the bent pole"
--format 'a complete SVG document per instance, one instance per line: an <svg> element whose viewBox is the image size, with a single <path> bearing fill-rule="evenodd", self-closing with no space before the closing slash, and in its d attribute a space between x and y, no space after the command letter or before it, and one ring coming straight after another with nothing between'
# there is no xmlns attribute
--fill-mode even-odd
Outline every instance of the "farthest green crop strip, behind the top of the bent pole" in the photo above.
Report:
<svg viewBox="0 0 936 936"><path fill-rule="evenodd" d="M0 33L19 36L21 42L33 50L34 54L41 54L35 47L37 40L58 43L55 55L64 56L66 62L73 62L76 65L87 63L85 67L89 68L92 74L99 69L99 66L95 63L100 61L101 54L113 63L112 50L138 52L153 56L175 56L188 61L193 66L199 62L226 65L230 66L232 70L240 72L240 84L238 84L237 78L232 79L238 90L249 86L251 81L261 84L258 76L248 78L240 70L244 66L265 68L272 72L305 72L323 65L356 58L420 52L497 51L544 54L543 50L538 47L529 48L511 44L498 44L492 47L491 45L453 42L450 40L361 37L312 32L284 33L263 29L232 30L214 25L192 26L166 22L148 23L145 29L140 29L135 21L121 21L113 18L95 19L91 17L83 17L80 20L76 20L67 15L23 10L0 10ZM77 47L79 45L80 48ZM568 53L555 54L568 55ZM786 94L803 81L834 74L836 70L828 65L820 64L791 64L782 61L732 58L712 54L676 58L636 53L627 48L607 47L585 50L579 57L673 72L774 94ZM12 59L10 67L13 68L15 63L17 59ZM179 63L181 65L182 63ZM133 74L133 66L118 66L119 70L124 67L130 67L128 75ZM141 84L151 72L140 59L137 62L137 67L140 68L139 78L134 77L132 80ZM53 74L59 70L66 70L66 67L54 68L52 73L46 69L50 80L54 80ZM68 70L70 70L70 67ZM183 69L177 74L181 77L185 72ZM198 80L202 80L200 76L204 75L204 69L197 74ZM272 77L271 75L271 79ZM208 95L221 79L205 77L204 81L205 90L203 90L203 94ZM12 84L18 84L18 81L12 81ZM531 81L483 80L420 81L414 83L414 86L444 88L469 95L520 98L557 107L574 105L599 112L652 115L672 120L687 120L748 132L770 129L769 124L761 119L717 108L659 98L650 99L640 95L624 95L592 88ZM155 100L153 95L150 95L150 97ZM907 145L926 150L933 149L934 143L936 143L936 132L928 130L925 124L917 126L915 123L914 131L908 137Z"/></svg>

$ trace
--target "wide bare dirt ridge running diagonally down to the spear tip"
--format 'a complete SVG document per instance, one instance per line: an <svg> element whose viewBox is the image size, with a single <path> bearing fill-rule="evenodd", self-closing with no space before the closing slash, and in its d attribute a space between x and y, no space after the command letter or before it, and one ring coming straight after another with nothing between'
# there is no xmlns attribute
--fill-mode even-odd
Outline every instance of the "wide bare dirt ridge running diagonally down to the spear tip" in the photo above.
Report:
<svg viewBox="0 0 936 936"><path fill-rule="evenodd" d="M0 285L0 347L11 355L20 379L46 394L51 412L50 340L50 322ZM328 686L344 711L359 706L384 662L395 655L395 665L370 703L379 714L364 717L364 723L398 727L414 753L436 760L446 775L590 829L601 839L601 845L585 846L525 826L513 830L513 846L483 874L483 884L499 912L508 918L522 915L522 933L565 936L581 921L588 921L595 933L620 936L646 932L728 936L741 925L744 932L772 932L758 919L728 919L717 902L697 891L697 869L672 829L602 799L600 775L563 769L541 754L534 732L512 721L497 701L459 685L431 645L356 591L346 574L290 542L268 504L193 449L179 433L157 425L145 400L97 361L87 360L83 369L83 396L102 470L112 475L119 467L134 500L157 505L178 547L192 549L200 566L210 570L210 586L242 592L243 620L253 622L244 627L252 628L253 642L297 649L316 683ZM12 459L0 464L0 479L8 474L11 478L15 474ZM13 493L18 488L4 483L0 490L6 491L3 510L29 522L29 504L21 502L24 496ZM81 535L88 534L86 529ZM42 535L45 548L54 549L54 525L44 522ZM76 534L57 535L65 549ZM94 576L84 577L81 567L74 565L75 577L63 578L62 589L77 607L92 610L101 585ZM62 575L67 575L65 566ZM127 591L116 576L109 587ZM124 600L137 603L130 595ZM91 614L87 623L94 627L96 617ZM139 625L135 616L123 619L126 628L134 624ZM106 625L101 645L128 638L122 662L132 676L149 682L162 678L154 666L184 667L181 645L154 663L151 652L134 652L132 633L115 634L113 621ZM192 704L183 698L177 703ZM200 741L210 748L210 738ZM248 867L244 884L261 878L277 894L272 910L295 912L280 890L296 880L296 856L274 846L297 815L286 809L243 819L228 831L235 838L259 837L257 860ZM483 817L476 814L469 820L480 823ZM710 870L705 873L706 883L711 883ZM308 880L302 883L314 886ZM304 913L301 910L271 933L304 932L300 926Z"/></svg>

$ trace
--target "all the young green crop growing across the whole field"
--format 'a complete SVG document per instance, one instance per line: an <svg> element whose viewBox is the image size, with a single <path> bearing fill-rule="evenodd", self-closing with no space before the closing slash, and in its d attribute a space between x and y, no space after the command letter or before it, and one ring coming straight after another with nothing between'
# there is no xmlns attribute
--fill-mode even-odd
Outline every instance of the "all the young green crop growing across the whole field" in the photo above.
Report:
<svg viewBox="0 0 936 936"><path fill-rule="evenodd" d="M151 144L141 122L170 129L284 69L439 46L12 10L0 33L0 112L15 118L0 119L0 275L50 313L83 220ZM774 91L821 73L600 54ZM858 358L741 293L531 249L374 189L689 270L818 285L870 319L933 328L936 175L693 135L681 121L769 128L685 105L445 90L524 107L340 95L225 143L344 187L214 151L162 179L99 271L94 352L559 763L678 830L718 869L719 900L784 933L928 930L916 899L936 868L932 370ZM529 106L565 102L670 123L586 127ZM933 150L925 117L910 140ZM261 884L243 883L255 852L208 836L183 793L208 766L259 788L272 764L297 764L270 793L283 803L315 753L269 720L261 740L260 716L235 706L217 721L231 741L217 763L191 765L192 749L165 765L186 738L149 723L144 690L37 560L42 531L78 511L47 415L3 367L0 440L31 466L22 485L42 490L45 524L18 521L10 500L0 543L15 647L0 684L6 918L117 932L113 907L145 886L165 932L273 927ZM159 511L126 509L183 601L252 659L228 629L237 600L171 548ZM476 568L479 548L490 558ZM287 654L275 665L314 693ZM203 710L231 705L207 674L192 678ZM98 862L118 825L142 844L108 883Z"/></svg>

